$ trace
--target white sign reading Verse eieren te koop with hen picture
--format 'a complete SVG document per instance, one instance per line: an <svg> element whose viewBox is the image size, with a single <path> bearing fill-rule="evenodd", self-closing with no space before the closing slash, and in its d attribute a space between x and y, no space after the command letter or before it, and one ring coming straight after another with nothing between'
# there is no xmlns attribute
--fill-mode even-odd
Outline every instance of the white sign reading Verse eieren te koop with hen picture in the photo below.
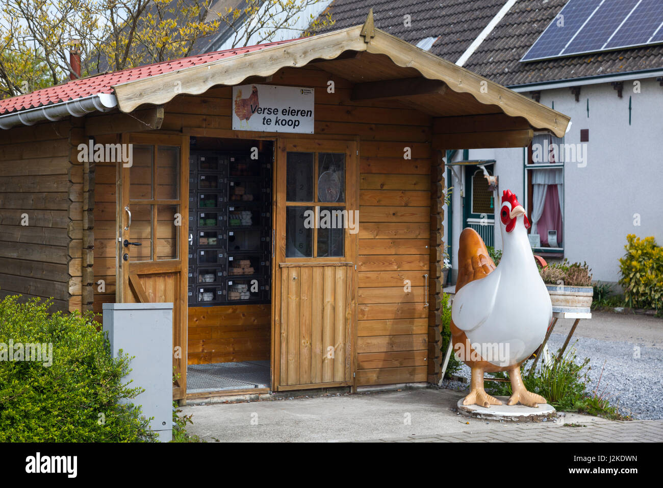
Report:
<svg viewBox="0 0 663 488"><path fill-rule="evenodd" d="M233 86L233 130L314 133L313 88Z"/></svg>

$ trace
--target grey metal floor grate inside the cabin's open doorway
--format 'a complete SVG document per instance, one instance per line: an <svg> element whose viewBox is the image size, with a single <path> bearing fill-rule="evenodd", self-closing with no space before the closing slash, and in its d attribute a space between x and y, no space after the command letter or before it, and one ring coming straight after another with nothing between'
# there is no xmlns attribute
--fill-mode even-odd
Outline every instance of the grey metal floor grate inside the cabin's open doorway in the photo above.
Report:
<svg viewBox="0 0 663 488"><path fill-rule="evenodd" d="M204 393L247 388L269 388L269 361L188 365L186 392Z"/></svg>

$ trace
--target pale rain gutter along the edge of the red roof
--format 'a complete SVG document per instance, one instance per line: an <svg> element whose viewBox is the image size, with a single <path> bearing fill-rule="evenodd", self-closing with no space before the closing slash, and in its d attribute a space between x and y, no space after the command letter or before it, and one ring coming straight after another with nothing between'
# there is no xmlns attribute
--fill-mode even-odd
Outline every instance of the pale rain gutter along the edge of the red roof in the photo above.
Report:
<svg viewBox="0 0 663 488"><path fill-rule="evenodd" d="M10 129L15 125L21 124L34 125L44 120L54 122L70 116L82 117L95 110L98 112L109 112L115 107L117 107L117 98L115 98L115 95L97 93L84 98L77 98L76 100L67 100L66 102L5 114L0 116L0 129Z"/></svg>

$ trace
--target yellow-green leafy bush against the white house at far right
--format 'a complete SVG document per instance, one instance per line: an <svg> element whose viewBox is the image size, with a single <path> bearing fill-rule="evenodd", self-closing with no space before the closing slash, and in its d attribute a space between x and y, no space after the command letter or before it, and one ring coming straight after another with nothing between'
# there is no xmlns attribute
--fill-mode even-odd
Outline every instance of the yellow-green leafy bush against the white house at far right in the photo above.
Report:
<svg viewBox="0 0 663 488"><path fill-rule="evenodd" d="M663 309L663 248L653 237L627 236L626 256L620 258L624 298L629 307Z"/></svg>

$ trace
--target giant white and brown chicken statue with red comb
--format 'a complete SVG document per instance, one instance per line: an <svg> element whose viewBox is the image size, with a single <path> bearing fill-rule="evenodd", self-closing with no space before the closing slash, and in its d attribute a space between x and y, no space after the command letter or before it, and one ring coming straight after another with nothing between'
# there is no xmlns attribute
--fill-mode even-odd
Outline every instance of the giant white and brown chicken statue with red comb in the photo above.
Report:
<svg viewBox="0 0 663 488"><path fill-rule="evenodd" d="M528 392L520 365L541 345L552 320L552 304L527 237L530 222L516 195L506 190L500 208L503 254L499 266L471 228L460 235L458 279L452 305L453 349L472 370L463 405L501 405L483 389L483 373L508 371L509 405L546 403Z"/></svg>

